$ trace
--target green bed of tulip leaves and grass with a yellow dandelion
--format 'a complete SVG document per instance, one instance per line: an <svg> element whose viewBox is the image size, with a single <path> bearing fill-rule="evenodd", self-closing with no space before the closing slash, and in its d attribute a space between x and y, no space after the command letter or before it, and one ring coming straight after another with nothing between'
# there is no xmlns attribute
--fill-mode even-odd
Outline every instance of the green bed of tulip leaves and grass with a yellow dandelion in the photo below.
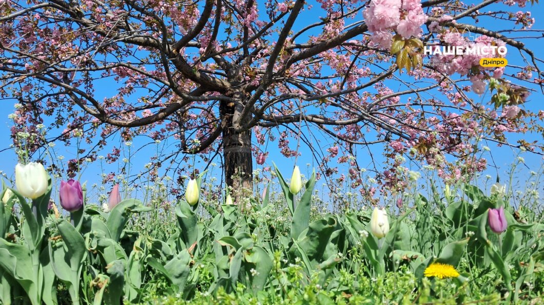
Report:
<svg viewBox="0 0 544 305"><path fill-rule="evenodd" d="M486 189L478 181L442 187L423 177L421 187L379 202L385 220L350 195L324 199L314 175L298 191L274 174L274 182L233 205L212 195L212 182L197 179L198 201L188 202L172 200L169 182L156 181L142 200L125 199L109 211L85 202L64 215L55 200L47 208L55 198L51 179L32 201L19 187L5 199L6 185L1 301L542 303L541 173L517 190L514 181ZM496 232L489 214L500 207L508 226ZM384 221L388 230L380 234Z"/></svg>

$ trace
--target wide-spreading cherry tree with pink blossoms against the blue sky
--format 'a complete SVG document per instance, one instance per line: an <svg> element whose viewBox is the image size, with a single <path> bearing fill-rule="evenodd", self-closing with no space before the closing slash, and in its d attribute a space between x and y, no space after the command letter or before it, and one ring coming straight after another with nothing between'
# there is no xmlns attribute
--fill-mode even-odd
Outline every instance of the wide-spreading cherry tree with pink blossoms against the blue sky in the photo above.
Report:
<svg viewBox="0 0 544 305"><path fill-rule="evenodd" d="M294 143L313 142L306 130L320 132L331 138L316 154L323 174L336 173L329 163L336 158L349 166L345 179L372 195L374 189L362 188L353 158L358 145L386 144L390 168L378 180L390 189L402 186L394 170L398 155L440 168L444 179L459 179L486 166L474 157L472 138L536 151L540 143L506 137L542 133L544 113L523 107L531 90L542 86L542 61L515 39L534 20L529 11L507 10L531 5L537 4L1 1L0 95L20 104L15 145L21 145L21 131L34 135L27 141L31 151L52 141L38 132L44 122L61 130L54 139L79 136L96 149L115 133L125 141L173 137L176 152L154 160L156 166L191 154L221 154L234 189L251 187L252 157L264 164L269 156L265 142L296 156ZM486 29L479 20L504 30ZM524 63L488 68L479 66L481 58L502 57L426 56L433 40L505 46ZM487 90L491 98L474 99ZM95 150L81 155L95 160ZM447 155L465 166L453 166ZM108 155L118 157L118 148Z"/></svg>

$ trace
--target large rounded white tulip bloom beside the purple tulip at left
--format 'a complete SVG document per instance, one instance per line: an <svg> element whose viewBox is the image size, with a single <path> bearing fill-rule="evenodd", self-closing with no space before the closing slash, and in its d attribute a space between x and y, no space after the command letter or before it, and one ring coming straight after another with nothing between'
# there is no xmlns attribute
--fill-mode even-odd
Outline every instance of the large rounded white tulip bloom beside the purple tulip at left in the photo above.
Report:
<svg viewBox="0 0 544 305"><path fill-rule="evenodd" d="M15 166L15 185L18 192L30 199L36 199L47 192L48 175L41 163L30 162Z"/></svg>

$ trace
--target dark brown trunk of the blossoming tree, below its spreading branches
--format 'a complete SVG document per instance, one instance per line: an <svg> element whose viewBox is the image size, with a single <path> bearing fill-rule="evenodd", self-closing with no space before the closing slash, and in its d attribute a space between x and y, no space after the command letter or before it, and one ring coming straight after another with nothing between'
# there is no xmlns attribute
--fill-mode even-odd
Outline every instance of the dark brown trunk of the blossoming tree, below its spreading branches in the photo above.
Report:
<svg viewBox="0 0 544 305"><path fill-rule="evenodd" d="M251 129L235 132L232 128L234 106L226 105L224 111L223 158L225 180L232 187L234 203L244 203L253 193L253 159L251 156ZM249 201L248 201L249 203Z"/></svg>

